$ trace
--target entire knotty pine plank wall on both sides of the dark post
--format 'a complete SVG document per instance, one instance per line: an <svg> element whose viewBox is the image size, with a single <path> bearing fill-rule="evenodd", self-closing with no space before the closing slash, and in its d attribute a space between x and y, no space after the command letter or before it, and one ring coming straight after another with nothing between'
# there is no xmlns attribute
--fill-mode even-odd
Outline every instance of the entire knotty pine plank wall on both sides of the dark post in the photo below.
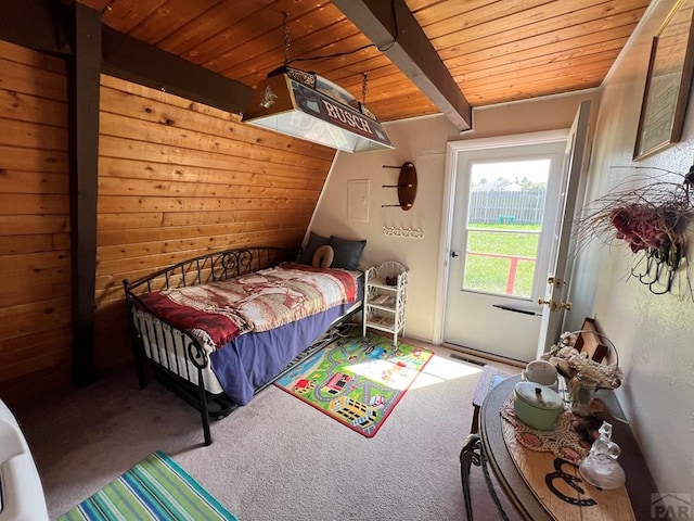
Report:
<svg viewBox="0 0 694 521"><path fill-rule="evenodd" d="M0 397L69 389L65 67L0 41ZM209 251L298 247L334 151L101 77L95 294L100 374L131 363L123 279Z"/></svg>

